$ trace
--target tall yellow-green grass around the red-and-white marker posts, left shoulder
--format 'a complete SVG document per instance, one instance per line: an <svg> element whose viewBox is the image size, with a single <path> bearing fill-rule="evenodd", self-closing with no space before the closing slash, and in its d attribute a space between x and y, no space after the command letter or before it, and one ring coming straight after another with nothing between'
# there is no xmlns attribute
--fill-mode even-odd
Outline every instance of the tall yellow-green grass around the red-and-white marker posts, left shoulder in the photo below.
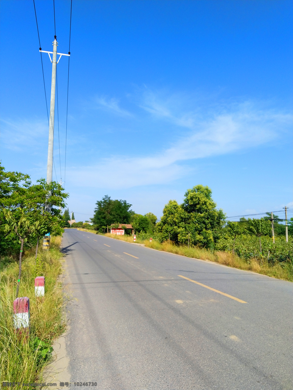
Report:
<svg viewBox="0 0 293 390"><path fill-rule="evenodd" d="M30 300L29 337L20 339L13 326L13 301L18 280L18 262L11 262L1 271L0 301L0 352L1 381L34 383L41 378L46 362L50 360L53 340L64 332L63 291L57 277L62 273L60 252L61 237L52 237L50 251L32 250L23 257L21 282L18 296ZM45 276L45 297L35 297L34 278ZM38 380L39 381L39 380Z"/></svg>

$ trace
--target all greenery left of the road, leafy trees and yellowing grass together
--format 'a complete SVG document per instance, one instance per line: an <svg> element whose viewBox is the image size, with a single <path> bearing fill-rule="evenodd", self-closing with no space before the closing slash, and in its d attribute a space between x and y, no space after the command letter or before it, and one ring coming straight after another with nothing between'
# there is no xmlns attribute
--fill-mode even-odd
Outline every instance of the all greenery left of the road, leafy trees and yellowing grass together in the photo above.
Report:
<svg viewBox="0 0 293 390"><path fill-rule="evenodd" d="M63 191L59 183L40 179L32 184L28 175L0 166L0 375L2 382L20 383L21 389L22 383L40 379L53 339L65 326L62 286L57 282L63 257L60 209L68 197ZM43 237L49 233L50 250L43 251ZM37 276L45 276L43 298L35 297ZM23 328L16 332L13 323L13 301L24 296L30 303L29 333Z"/></svg>

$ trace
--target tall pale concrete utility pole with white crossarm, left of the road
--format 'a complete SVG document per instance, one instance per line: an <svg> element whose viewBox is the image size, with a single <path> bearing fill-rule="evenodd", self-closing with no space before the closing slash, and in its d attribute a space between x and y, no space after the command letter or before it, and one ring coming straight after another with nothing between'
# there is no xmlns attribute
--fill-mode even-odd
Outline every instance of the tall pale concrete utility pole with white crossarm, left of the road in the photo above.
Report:
<svg viewBox="0 0 293 390"><path fill-rule="evenodd" d="M49 143L48 143L48 162L47 162L47 183L51 183L53 176L53 143L54 143L54 115L55 115L55 85L56 85L56 66L63 55L70 56L68 54L57 53L57 37L54 35L53 51L45 51L41 48L39 51L42 53L48 53L50 61L52 62L52 82L51 82L51 101L50 101L50 119L49 119ZM50 54L53 54L52 59ZM57 54L60 55L57 61ZM51 212L51 205L46 204L45 211Z"/></svg>

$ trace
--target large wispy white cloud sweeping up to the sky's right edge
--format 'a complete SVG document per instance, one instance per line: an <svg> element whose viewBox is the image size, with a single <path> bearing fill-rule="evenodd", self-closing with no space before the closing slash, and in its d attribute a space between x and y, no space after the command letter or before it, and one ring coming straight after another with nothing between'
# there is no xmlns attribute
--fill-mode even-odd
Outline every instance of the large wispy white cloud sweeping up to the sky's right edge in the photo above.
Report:
<svg viewBox="0 0 293 390"><path fill-rule="evenodd" d="M178 99L162 101L155 94L148 94L140 107L157 120L157 127L167 121L184 136L177 137L158 154L113 156L100 160L95 166L72 167L68 179L72 177L75 181L78 178L80 185L96 188L168 183L194 169L186 160L266 144L287 131L291 124L288 113L259 108L252 102L217 106L208 113L200 112L198 107L191 110L190 103L189 110L182 106L184 102ZM117 109L120 110L118 106ZM182 131L184 128L187 130Z"/></svg>

